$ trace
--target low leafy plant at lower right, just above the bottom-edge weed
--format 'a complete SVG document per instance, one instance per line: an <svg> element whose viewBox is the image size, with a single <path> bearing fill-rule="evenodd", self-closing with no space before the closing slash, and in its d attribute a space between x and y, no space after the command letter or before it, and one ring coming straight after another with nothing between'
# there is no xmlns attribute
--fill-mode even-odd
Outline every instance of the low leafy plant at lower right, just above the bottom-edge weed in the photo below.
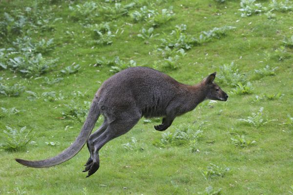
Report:
<svg viewBox="0 0 293 195"><path fill-rule="evenodd" d="M206 180L215 178L215 177L223 177L230 171L229 167L218 166L213 163L209 163L206 169L201 170L201 174L204 176Z"/></svg>

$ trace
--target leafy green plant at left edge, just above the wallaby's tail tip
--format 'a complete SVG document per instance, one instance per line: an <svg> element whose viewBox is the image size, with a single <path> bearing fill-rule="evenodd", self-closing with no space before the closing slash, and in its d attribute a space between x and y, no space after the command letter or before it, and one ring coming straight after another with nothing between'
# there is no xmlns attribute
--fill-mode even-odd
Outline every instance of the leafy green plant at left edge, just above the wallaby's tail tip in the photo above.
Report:
<svg viewBox="0 0 293 195"><path fill-rule="evenodd" d="M6 126L7 130L3 130L3 136L5 138L4 144L0 145L4 150L18 151L28 144L31 140L31 131L26 131L26 127L22 127L20 130L13 129Z"/></svg>

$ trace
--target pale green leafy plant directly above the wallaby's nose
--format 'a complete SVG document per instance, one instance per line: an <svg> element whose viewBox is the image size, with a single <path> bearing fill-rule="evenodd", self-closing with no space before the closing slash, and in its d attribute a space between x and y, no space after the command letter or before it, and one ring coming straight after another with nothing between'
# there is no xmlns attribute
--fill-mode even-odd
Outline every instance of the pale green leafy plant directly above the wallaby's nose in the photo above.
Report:
<svg viewBox="0 0 293 195"><path fill-rule="evenodd" d="M239 72L239 69L235 66L234 62L220 66L217 79L219 82L229 86L235 86L237 83L246 82L245 75Z"/></svg>

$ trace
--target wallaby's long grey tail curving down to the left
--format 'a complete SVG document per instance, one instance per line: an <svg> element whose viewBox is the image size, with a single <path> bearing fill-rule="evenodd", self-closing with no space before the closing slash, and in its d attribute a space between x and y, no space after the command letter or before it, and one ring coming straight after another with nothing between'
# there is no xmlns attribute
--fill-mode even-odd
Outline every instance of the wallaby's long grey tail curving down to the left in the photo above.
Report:
<svg viewBox="0 0 293 195"><path fill-rule="evenodd" d="M58 165L69 160L83 148L100 114L101 113L98 108L98 101L97 99L94 99L90 106L89 113L88 113L88 116L86 117L81 133L78 135L74 143L71 144L67 149L65 149L59 155L52 158L45 159L45 160L38 160L38 161L29 161L29 160L23 160L19 158L16 158L15 160L24 166L35 167L35 168L51 167L51 166Z"/></svg>

